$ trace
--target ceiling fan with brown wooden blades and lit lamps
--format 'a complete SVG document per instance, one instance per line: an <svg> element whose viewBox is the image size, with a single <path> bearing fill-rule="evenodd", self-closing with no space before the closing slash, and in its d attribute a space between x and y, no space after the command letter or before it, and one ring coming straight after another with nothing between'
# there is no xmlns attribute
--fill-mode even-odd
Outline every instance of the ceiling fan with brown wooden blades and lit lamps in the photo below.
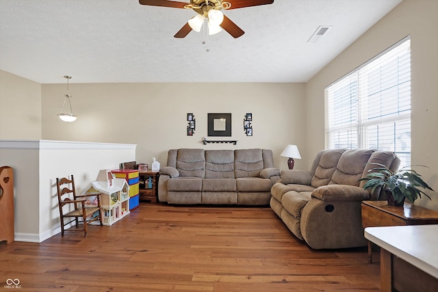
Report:
<svg viewBox="0 0 438 292"><path fill-rule="evenodd" d="M243 36L245 31L238 27L230 18L224 16L222 9L230 10L245 8L257 5L266 5L274 3L274 0L190 0L190 3L168 0L139 0L142 5L162 6L170 8L192 9L197 13L191 18L178 32L175 38L185 38L192 29L201 31L201 27L207 19L209 35L217 34L225 29L233 38ZM222 29L221 29L222 27Z"/></svg>

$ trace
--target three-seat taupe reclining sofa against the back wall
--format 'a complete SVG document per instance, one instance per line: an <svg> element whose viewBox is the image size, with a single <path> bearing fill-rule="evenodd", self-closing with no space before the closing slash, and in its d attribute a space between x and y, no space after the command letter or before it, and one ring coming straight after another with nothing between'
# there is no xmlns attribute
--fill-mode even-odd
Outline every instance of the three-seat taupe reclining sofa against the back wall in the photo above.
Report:
<svg viewBox="0 0 438 292"><path fill-rule="evenodd" d="M268 149L172 149L159 173L158 198L169 204L268 205L280 179Z"/></svg>

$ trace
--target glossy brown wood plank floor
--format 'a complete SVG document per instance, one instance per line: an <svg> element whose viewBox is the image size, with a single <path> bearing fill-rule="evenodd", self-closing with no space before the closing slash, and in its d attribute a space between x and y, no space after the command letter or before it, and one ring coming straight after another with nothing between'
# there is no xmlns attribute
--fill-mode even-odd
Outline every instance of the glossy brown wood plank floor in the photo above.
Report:
<svg viewBox="0 0 438 292"><path fill-rule="evenodd" d="M0 291L379 291L378 254L311 250L268 207L140 203L113 226L0 245Z"/></svg>

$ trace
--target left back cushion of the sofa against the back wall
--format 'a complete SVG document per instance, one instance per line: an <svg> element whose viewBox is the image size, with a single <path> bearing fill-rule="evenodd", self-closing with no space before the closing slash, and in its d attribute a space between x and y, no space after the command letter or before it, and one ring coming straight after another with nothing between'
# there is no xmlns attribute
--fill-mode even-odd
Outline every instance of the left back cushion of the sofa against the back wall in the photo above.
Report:
<svg viewBox="0 0 438 292"><path fill-rule="evenodd" d="M179 176L205 178L205 150L178 149L175 168L179 171Z"/></svg>

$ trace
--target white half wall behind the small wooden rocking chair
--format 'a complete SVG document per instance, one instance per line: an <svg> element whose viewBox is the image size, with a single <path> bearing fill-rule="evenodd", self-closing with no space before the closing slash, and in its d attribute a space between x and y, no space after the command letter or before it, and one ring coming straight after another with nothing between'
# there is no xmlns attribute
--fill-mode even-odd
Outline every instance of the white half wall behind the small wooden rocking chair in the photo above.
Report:
<svg viewBox="0 0 438 292"><path fill-rule="evenodd" d="M73 174L81 194L99 170L136 159L136 145L0 140L0 164L14 168L15 240L41 242L60 233L56 178Z"/></svg>

